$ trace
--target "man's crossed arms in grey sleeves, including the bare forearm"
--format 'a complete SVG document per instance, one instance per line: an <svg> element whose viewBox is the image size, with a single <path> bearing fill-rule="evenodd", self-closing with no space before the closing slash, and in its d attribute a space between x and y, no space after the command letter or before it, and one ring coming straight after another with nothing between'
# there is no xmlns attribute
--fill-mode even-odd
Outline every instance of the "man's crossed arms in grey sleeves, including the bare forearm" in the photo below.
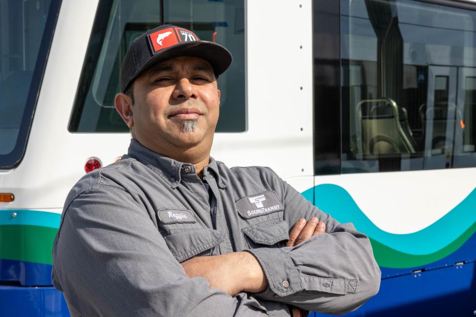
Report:
<svg viewBox="0 0 476 317"><path fill-rule="evenodd" d="M287 304L334 314L355 309L379 286L368 238L288 191L287 208L318 218L325 233L181 265L137 199L116 187L88 189L63 212L53 283L83 316L289 316Z"/></svg>

